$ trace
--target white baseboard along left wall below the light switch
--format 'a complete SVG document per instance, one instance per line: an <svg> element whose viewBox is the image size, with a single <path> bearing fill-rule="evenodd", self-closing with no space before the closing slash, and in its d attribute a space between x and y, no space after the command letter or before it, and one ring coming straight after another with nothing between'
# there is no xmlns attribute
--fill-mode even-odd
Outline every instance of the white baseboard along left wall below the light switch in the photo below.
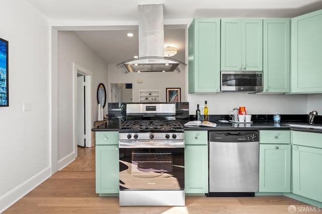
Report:
<svg viewBox="0 0 322 214"><path fill-rule="evenodd" d="M41 184L44 180L51 176L51 168L47 167L32 176L28 180L22 182L18 186L12 188L5 194L0 196L0 213L8 209L11 205L16 203L19 199L33 190L36 186Z"/></svg>

